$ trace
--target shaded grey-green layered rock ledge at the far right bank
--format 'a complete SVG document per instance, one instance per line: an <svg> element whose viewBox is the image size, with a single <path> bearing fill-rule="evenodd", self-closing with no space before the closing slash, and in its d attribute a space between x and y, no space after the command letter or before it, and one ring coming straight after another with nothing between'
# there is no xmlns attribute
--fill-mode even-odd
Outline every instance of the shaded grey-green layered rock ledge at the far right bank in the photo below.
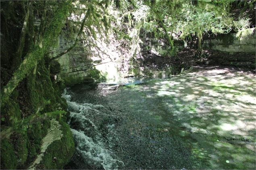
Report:
<svg viewBox="0 0 256 170"><path fill-rule="evenodd" d="M206 56L206 64L232 66L255 69L255 39L256 34L239 40L236 33L206 37L202 42L202 47Z"/></svg>

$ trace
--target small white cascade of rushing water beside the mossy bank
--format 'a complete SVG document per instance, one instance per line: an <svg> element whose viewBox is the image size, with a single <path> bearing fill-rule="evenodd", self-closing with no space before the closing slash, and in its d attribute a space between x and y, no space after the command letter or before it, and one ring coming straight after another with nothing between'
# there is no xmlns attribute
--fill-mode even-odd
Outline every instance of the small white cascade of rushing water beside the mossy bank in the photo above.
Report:
<svg viewBox="0 0 256 170"><path fill-rule="evenodd" d="M71 94L64 90L62 97L67 100L70 111L69 126L73 133L76 153L73 158L74 164L81 169L117 169L123 166L123 162L114 158L111 150L107 148L98 127L88 117L102 116L101 109L104 106L91 103L76 103L71 101ZM106 125L111 128L114 125Z"/></svg>

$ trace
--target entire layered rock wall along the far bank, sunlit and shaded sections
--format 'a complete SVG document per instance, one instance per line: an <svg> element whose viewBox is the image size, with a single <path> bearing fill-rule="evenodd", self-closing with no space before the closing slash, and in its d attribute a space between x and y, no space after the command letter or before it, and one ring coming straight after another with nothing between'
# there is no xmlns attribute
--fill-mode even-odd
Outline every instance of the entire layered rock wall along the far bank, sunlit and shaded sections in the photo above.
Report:
<svg viewBox="0 0 256 170"><path fill-rule="evenodd" d="M49 55L54 57L73 43L74 40L70 40L63 33L58 39L57 47L50 49ZM186 47L186 42L175 40L174 46L175 51L179 53ZM202 47L210 51L208 58L212 64L232 65L238 61L237 66L254 65L252 57L255 54L255 34L242 41L235 37L235 33L209 37L202 42ZM73 85L95 80L117 82L121 78L131 76L176 74L177 70L182 68L174 68L171 59L164 57L168 49L167 40L143 35L137 45L137 52L131 55L125 44L114 34L108 35L108 41L105 35L97 34L97 39L87 35L79 40L76 47L56 60L60 63L57 80L64 81L66 85ZM158 63L158 58L161 63ZM229 58L232 61L229 61Z"/></svg>

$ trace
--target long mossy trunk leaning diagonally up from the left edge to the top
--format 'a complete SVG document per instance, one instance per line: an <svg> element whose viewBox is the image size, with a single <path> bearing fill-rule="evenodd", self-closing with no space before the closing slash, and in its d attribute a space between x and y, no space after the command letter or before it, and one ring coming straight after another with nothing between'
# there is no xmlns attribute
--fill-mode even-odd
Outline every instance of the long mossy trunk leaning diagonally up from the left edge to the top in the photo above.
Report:
<svg viewBox="0 0 256 170"><path fill-rule="evenodd" d="M38 41L37 45L35 45L35 48L32 51L25 55L24 60L14 72L8 84L2 88L1 105L5 104L6 100L9 98L12 91L17 87L19 82L23 80L23 78L25 78L31 70L33 70L37 64L37 61L44 57L46 50L54 45L54 42L62 29L63 21L69 12L69 5L70 2L67 1L59 4L54 17L52 18L51 24L47 29L45 29L46 33L44 34L44 37Z"/></svg>

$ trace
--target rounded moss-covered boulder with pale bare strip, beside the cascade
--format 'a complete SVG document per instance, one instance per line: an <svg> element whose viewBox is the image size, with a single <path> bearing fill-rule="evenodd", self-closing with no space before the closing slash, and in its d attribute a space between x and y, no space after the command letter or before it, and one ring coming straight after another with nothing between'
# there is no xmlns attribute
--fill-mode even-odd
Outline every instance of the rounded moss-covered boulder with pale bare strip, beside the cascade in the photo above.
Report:
<svg viewBox="0 0 256 170"><path fill-rule="evenodd" d="M51 120L51 127L42 140L40 155L31 169L63 169L75 151L69 126L64 121Z"/></svg>

